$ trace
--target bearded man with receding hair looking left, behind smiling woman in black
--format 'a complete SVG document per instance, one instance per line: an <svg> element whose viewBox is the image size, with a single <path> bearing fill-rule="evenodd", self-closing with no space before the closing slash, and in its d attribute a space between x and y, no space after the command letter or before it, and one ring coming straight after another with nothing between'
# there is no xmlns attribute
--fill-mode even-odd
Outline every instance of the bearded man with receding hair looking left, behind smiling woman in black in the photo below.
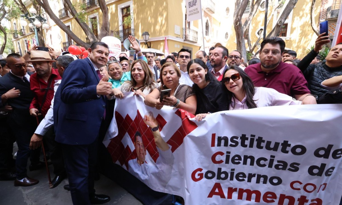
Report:
<svg viewBox="0 0 342 205"><path fill-rule="evenodd" d="M228 49L224 46L217 46L212 50L210 58L210 65L213 67L211 73L215 76L218 81L222 80L224 71L228 68L226 65L228 59Z"/></svg>

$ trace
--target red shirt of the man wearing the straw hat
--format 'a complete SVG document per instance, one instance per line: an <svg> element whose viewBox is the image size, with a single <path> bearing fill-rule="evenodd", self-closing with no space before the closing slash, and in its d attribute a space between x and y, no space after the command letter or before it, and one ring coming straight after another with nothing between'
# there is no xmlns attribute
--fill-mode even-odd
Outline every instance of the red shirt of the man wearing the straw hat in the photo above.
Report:
<svg viewBox="0 0 342 205"><path fill-rule="evenodd" d="M46 95L44 105L41 108L41 114L43 115L43 117L45 117L46 113L48 112L51 106L51 100L54 96L54 90L53 90L54 84L58 80L62 79L60 74L58 74L57 69L54 69L54 68L51 68L51 69L52 69L51 76L50 76L50 78L52 78L51 86L48 89L48 94ZM46 89L44 88L48 87L48 83L45 82L42 78L40 78L37 75L37 73L34 73L30 76L30 85L31 85L31 91L34 93L34 98L31 102L30 109L31 108L39 109L41 106L41 103L43 102L43 98L46 92Z"/></svg>

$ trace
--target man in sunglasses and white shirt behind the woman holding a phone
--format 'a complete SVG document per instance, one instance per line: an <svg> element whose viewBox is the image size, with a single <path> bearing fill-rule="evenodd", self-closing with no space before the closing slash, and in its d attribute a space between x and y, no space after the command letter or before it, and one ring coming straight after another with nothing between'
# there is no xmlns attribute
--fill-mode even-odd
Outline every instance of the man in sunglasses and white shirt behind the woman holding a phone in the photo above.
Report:
<svg viewBox="0 0 342 205"><path fill-rule="evenodd" d="M190 77L186 68L189 61L191 60L191 51L188 49L181 49L178 52L177 59L178 59L179 69L181 70L181 78L179 79L179 83L192 86L194 83L190 80Z"/></svg>

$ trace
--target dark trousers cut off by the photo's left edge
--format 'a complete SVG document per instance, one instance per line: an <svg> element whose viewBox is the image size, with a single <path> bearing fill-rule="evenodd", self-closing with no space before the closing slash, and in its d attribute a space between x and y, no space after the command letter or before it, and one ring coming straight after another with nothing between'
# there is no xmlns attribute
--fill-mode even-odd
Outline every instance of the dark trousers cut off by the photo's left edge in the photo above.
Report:
<svg viewBox="0 0 342 205"><path fill-rule="evenodd" d="M6 116L0 116L0 174L13 166L13 143L15 138L8 127Z"/></svg>

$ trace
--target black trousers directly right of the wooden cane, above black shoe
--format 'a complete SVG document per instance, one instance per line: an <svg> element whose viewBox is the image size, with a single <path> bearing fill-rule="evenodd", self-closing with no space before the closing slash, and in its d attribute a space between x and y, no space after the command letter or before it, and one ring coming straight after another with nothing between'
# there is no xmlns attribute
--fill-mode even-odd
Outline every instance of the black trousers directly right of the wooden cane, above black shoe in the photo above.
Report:
<svg viewBox="0 0 342 205"><path fill-rule="evenodd" d="M44 135L45 145L50 150L50 159L53 165L53 173L55 175L63 175L65 174L65 166L62 152L62 145L55 141L55 131L54 128L51 127L47 133Z"/></svg>

